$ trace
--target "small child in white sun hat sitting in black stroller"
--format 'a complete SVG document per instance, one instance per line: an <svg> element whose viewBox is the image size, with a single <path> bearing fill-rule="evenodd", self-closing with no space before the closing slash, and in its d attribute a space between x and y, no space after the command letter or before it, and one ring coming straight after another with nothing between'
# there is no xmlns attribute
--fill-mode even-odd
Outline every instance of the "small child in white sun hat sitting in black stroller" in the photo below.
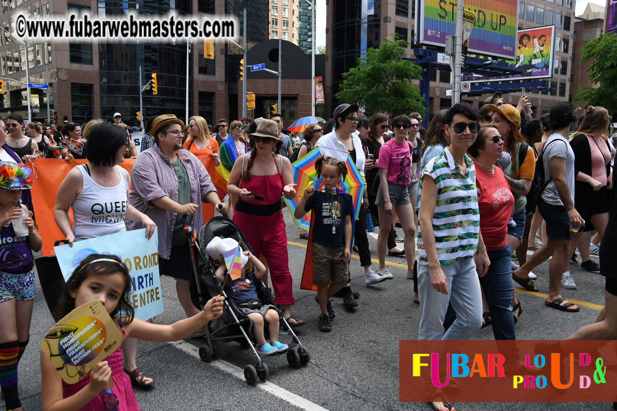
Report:
<svg viewBox="0 0 617 411"><path fill-rule="evenodd" d="M238 242L233 238L214 237L207 245L207 253L214 259L221 262L215 274L220 283L225 281L227 268L223 261L223 254L238 247ZM242 251L241 256L242 274L238 279L227 279L225 292L233 299L239 309L246 314L253 322L253 334L257 340L259 352L265 355L284 352L289 349L287 344L278 341L279 318L276 307L270 304L262 306L257 296L257 288L254 281L263 277L266 267L255 257L251 251ZM253 270L255 267L255 270ZM268 332L270 333L270 344L266 342L263 334L263 323L268 322Z"/></svg>

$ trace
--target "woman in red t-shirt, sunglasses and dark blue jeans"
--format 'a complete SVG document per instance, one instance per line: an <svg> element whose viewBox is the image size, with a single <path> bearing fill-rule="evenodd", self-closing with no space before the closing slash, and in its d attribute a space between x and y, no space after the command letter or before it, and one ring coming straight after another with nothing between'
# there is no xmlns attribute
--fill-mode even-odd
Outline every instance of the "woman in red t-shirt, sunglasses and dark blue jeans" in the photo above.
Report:
<svg viewBox="0 0 617 411"><path fill-rule="evenodd" d="M480 232L491 260L489 271L480 277L480 283L487 309L491 311L493 334L495 340L516 340L512 314L514 286L510 267L511 250L506 240L514 196L503 177L502 169L494 165L503 152L503 140L497 128L482 127L467 152L474 158Z"/></svg>

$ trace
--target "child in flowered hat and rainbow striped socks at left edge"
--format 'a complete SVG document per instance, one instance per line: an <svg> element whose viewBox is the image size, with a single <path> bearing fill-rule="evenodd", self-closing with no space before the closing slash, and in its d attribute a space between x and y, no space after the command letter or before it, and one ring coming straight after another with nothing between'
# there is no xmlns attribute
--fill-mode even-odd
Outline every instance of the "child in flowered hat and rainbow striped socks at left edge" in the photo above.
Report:
<svg viewBox="0 0 617 411"><path fill-rule="evenodd" d="M0 161L0 386L7 410L23 410L17 393L17 364L30 340L35 297L32 251L41 250L32 213L19 203L22 190L32 187L30 169ZM28 234L19 231L22 214Z"/></svg>

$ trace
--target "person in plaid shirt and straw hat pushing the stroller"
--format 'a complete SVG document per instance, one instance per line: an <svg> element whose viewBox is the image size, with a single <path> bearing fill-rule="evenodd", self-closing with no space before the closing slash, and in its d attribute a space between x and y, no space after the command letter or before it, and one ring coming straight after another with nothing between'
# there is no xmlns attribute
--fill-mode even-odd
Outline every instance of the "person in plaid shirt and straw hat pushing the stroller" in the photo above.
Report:
<svg viewBox="0 0 617 411"><path fill-rule="evenodd" d="M159 229L159 271L176 280L176 292L187 317L199 313L191 302L191 251L182 229L183 215L193 216L191 226L203 225L202 201L222 214L228 206L220 201L217 190L201 161L182 147L184 123L175 115L154 119L150 134L155 144L139 154L131 169L129 203L146 214ZM127 222L129 230L141 228L139 222Z"/></svg>

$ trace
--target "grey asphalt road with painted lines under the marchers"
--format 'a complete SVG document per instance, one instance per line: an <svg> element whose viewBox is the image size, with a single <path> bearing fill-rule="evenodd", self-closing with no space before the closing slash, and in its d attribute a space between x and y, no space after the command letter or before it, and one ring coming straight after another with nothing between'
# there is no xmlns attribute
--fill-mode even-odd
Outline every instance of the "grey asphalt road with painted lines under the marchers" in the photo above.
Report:
<svg viewBox="0 0 617 411"><path fill-rule="evenodd" d="M393 280L373 287L364 285L364 275L357 254L352 259L352 288L361 293L354 312L342 308L342 300L333 303L336 319L331 333L318 330L319 309L315 293L299 289L304 264L306 240L298 237L289 212L284 210L288 224L289 269L294 279L296 305L292 314L307 322L299 328L299 339L310 352L305 367L289 367L285 356L267 359L270 379L267 383L249 386L242 376L246 364L255 364L249 351L237 343L221 345L220 359L210 364L196 354L203 340L175 343L141 342L138 366L155 380L152 389L135 389L142 410L429 410L423 403L399 402L399 340L418 337L420 308L412 303L413 284L406 278L403 258L389 257ZM399 229L400 231L400 229ZM376 240L369 238L376 261ZM597 256L593 257L597 261ZM374 267L377 267L376 262ZM521 291L523 314L516 325L519 340L560 340L582 325L595 320L604 302L603 277L570 266L577 290L562 290L570 301L581 304L578 313L560 312L544 306L542 293ZM540 291L548 289L548 263L534 272ZM178 303L173 280L163 278L165 312L158 315L158 324L170 324L182 319L184 312ZM517 288L520 290L520 288ZM41 409L41 378L39 344L52 327L37 280L37 295L33 314L30 345L19 366L19 388L26 410ZM475 339L492 339L491 327L480 330ZM592 400L592 399L583 399ZM519 410L545 409L610 410L608 403L456 403L457 410Z"/></svg>

